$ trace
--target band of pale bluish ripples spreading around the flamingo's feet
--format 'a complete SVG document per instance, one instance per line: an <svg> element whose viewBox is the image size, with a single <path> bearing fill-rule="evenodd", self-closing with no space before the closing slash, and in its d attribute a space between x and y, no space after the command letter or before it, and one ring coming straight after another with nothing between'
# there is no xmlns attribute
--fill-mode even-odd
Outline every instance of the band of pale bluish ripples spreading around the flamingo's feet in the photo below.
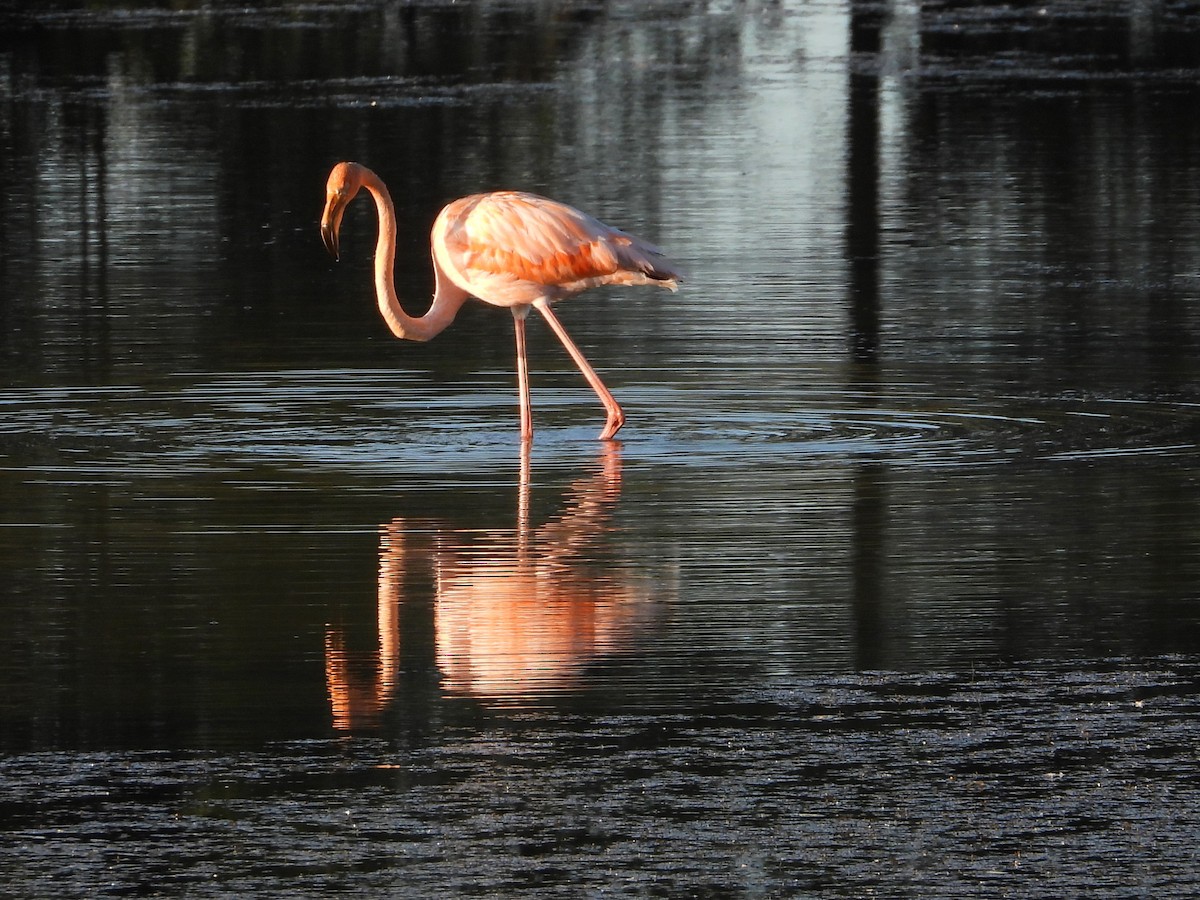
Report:
<svg viewBox="0 0 1200 900"><path fill-rule="evenodd" d="M486 383L485 383L486 382ZM376 475L511 468L503 379L454 388L388 370L179 376L154 385L0 394L5 468L52 480L281 470ZM700 469L876 458L902 467L1190 455L1200 404L936 396L919 389L706 391L625 385L626 458ZM600 426L578 389L535 397L542 464L577 460Z"/></svg>

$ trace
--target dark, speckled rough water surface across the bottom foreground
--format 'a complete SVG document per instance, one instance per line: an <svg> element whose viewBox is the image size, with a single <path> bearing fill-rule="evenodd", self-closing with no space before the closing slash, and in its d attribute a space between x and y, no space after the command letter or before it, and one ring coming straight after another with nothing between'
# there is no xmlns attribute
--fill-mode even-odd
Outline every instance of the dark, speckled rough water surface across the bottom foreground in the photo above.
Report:
<svg viewBox="0 0 1200 900"><path fill-rule="evenodd" d="M1198 674L821 677L415 742L5 757L6 869L55 896L1187 896Z"/></svg>

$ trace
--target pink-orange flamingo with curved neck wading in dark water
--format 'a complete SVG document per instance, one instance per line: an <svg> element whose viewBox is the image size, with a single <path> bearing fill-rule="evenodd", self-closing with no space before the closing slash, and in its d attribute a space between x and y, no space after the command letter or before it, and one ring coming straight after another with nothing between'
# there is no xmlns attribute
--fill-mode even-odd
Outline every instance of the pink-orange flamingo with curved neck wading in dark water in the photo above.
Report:
<svg viewBox="0 0 1200 900"><path fill-rule="evenodd" d="M448 204L433 222L433 302L424 316L413 318L396 296L396 209L386 185L366 166L340 162L329 173L322 239L337 259L342 215L362 188L374 199L379 218L376 299L391 332L408 341L428 341L454 322L470 296L509 307L516 330L521 440L529 442L533 412L524 323L529 310L536 310L604 404L607 421L600 439L612 439L625 424L625 413L551 305L599 284L658 284L674 290L680 274L662 252L557 200L521 191L470 194Z"/></svg>

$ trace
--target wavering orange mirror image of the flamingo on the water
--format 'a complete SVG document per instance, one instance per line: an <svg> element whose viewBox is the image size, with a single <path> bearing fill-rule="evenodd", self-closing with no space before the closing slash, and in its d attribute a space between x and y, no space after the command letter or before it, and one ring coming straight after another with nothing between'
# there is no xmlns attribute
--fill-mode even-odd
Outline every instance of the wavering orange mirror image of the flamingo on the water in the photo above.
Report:
<svg viewBox="0 0 1200 900"><path fill-rule="evenodd" d="M577 684L589 662L630 647L658 608L652 580L610 546L620 497L620 448L565 492L563 511L529 524L529 446L522 448L516 527L456 529L397 517L380 529L376 659L356 665L341 631L325 641L334 725L376 722L395 697L401 604L432 572L434 661L452 695L511 702Z"/></svg>

